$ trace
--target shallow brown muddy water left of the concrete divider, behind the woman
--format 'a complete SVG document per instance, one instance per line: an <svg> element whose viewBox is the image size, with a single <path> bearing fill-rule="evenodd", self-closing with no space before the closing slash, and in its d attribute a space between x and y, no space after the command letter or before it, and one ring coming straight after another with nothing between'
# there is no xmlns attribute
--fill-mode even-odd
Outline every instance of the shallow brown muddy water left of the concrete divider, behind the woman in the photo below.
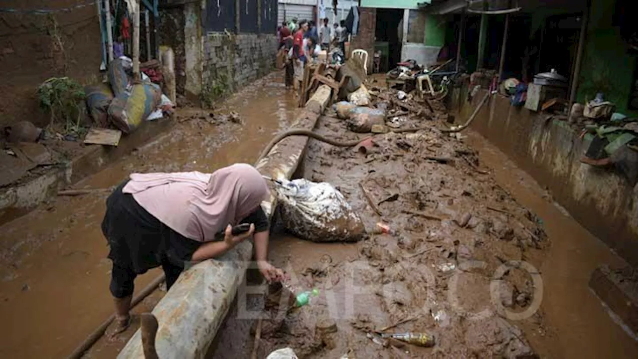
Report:
<svg viewBox="0 0 638 359"><path fill-rule="evenodd" d="M210 112L228 111L239 112L244 124L209 123ZM111 187L130 172L211 172L234 162L252 163L265 142L290 125L295 111L283 79L271 75L214 111L178 111L176 121L182 122L170 134L77 188ZM110 261L100 231L105 197L61 197L1 227L0 317L5 325L0 329L0 357L63 357L112 313ZM136 290L158 274L153 270L143 275ZM161 295L156 292L135 312L152 308ZM126 335L115 342L101 340L89 356L112 358L127 340Z"/></svg>

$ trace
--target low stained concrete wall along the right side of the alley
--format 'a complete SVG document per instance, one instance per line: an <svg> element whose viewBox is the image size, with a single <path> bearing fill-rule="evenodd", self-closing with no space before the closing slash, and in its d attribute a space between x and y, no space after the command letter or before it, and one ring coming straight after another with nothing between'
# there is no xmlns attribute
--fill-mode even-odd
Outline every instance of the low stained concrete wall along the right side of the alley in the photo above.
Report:
<svg viewBox="0 0 638 359"><path fill-rule="evenodd" d="M460 94L466 94L466 88ZM467 103L461 98L457 118L468 118L484 90ZM459 109L458 100L453 107ZM508 98L494 95L472 123L542 185L581 225L634 266L638 264L638 186L621 174L582 164L591 143L563 121L544 121L536 112L511 107Z"/></svg>

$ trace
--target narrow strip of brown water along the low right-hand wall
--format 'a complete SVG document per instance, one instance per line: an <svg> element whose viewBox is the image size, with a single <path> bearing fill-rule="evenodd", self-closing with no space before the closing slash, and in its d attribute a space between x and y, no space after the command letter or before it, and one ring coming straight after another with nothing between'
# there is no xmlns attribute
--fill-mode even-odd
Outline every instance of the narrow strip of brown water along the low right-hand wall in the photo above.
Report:
<svg viewBox="0 0 638 359"><path fill-rule="evenodd" d="M638 342L614 323L588 287L597 266L623 265L623 260L553 202L551 195L498 148L476 132L468 134L498 183L544 220L552 241L540 271L545 288L541 308L553 330L546 336L526 330L533 347L541 356L553 358L637 357Z"/></svg>

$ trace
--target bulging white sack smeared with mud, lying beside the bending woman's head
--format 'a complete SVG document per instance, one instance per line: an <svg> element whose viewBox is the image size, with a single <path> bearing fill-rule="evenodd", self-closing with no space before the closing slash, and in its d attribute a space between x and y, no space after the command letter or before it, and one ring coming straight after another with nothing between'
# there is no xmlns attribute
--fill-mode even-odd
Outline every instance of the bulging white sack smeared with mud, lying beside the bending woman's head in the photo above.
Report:
<svg viewBox="0 0 638 359"><path fill-rule="evenodd" d="M361 218L330 183L284 179L275 188L281 220L299 238L314 242L364 238L366 229Z"/></svg>

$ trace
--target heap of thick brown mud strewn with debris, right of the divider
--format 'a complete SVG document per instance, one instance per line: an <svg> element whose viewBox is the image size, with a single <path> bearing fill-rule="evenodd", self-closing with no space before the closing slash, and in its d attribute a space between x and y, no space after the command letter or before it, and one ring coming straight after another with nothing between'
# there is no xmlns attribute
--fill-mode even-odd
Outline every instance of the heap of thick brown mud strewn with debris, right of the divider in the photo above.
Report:
<svg viewBox="0 0 638 359"><path fill-rule="evenodd" d="M322 294L299 308L285 289L269 297L260 348L289 346L300 358L533 356L517 323L545 332L535 269L549 246L542 220L496 184L463 135L441 131L443 105L369 88L371 106L388 114L385 130L365 151L311 140L302 173L338 188L369 238L348 260L304 260L296 286ZM347 111L320 118L317 132L360 139L337 112ZM330 340L325 317L338 331ZM374 334L401 321L387 332L427 333L434 346Z"/></svg>

